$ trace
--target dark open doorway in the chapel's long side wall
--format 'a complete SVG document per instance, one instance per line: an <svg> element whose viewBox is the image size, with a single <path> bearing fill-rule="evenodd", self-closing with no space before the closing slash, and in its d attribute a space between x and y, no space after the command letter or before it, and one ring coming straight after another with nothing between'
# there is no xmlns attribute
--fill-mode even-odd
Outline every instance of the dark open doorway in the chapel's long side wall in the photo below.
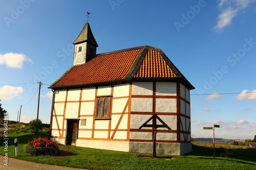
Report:
<svg viewBox="0 0 256 170"><path fill-rule="evenodd" d="M68 121L68 129L67 129L67 136L66 136L66 139L67 139L66 144L76 145L79 120L67 120L67 121Z"/></svg>

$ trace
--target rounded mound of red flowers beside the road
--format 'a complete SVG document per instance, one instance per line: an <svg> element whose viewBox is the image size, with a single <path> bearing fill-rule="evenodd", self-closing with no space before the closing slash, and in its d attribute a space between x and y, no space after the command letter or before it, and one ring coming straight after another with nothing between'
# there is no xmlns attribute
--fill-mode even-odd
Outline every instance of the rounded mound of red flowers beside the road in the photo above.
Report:
<svg viewBox="0 0 256 170"><path fill-rule="evenodd" d="M29 155L52 155L59 153L58 143L46 139L38 138L24 145L24 152Z"/></svg>

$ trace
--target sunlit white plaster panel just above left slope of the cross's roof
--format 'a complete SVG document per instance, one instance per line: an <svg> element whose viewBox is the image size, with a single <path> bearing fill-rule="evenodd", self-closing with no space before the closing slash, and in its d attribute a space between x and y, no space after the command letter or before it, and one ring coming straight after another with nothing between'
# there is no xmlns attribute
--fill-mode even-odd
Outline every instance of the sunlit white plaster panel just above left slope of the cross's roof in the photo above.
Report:
<svg viewBox="0 0 256 170"><path fill-rule="evenodd" d="M152 98L132 98L132 112L152 112L153 99Z"/></svg>

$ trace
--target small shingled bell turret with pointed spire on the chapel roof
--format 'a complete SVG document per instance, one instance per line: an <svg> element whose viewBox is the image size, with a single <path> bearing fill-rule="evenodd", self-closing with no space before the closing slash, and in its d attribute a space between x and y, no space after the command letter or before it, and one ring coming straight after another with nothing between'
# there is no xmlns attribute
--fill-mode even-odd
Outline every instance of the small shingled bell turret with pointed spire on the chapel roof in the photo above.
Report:
<svg viewBox="0 0 256 170"><path fill-rule="evenodd" d="M75 45L74 65L84 64L88 57L96 54L98 44L88 22L86 22L73 44Z"/></svg>

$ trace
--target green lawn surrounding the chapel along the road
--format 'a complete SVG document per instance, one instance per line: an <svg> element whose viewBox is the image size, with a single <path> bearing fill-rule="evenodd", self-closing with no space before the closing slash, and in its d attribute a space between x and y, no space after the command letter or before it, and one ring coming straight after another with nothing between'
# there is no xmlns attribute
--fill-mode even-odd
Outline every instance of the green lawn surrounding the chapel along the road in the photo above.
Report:
<svg viewBox="0 0 256 170"><path fill-rule="evenodd" d="M243 146L216 144L217 159L212 159L212 143L201 142L193 143L191 155L157 155L158 159L149 159L150 154L70 147L76 154L57 161L49 160L48 158L51 156L31 156L23 152L23 146L39 135L12 134L11 131L8 140L8 155L10 157L15 157L15 137L18 138L19 142L18 159L53 165L89 169L256 169L256 150ZM40 137L48 137L48 134L42 133ZM5 154L3 142L0 143L0 154Z"/></svg>

